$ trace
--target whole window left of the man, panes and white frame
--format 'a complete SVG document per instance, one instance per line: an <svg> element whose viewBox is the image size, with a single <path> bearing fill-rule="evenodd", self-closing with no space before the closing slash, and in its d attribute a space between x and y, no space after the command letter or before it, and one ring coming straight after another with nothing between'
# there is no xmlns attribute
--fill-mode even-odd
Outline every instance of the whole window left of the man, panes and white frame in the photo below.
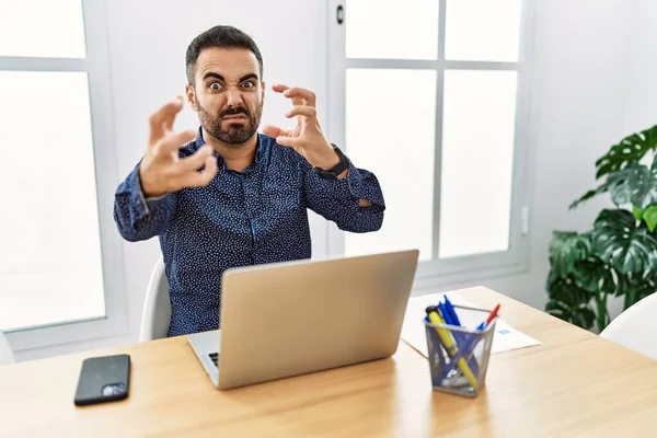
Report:
<svg viewBox="0 0 657 438"><path fill-rule="evenodd" d="M103 11L0 0L0 328L18 350L125 333Z"/></svg>

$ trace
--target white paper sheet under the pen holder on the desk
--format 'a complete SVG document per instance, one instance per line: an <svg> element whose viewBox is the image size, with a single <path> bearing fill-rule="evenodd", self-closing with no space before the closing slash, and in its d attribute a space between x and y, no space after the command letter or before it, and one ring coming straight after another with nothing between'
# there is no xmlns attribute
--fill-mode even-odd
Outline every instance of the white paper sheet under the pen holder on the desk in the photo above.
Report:
<svg viewBox="0 0 657 438"><path fill-rule="evenodd" d="M449 292L411 298L408 300L408 306L406 307L406 315L404 318L401 337L402 341L415 348L424 357L428 357L429 354L427 350L427 336L425 332L425 325L423 323L423 315L425 314L425 309L428 306L438 304L439 301L443 300L442 297L445 295L447 295L451 303L454 306L476 307L458 295ZM500 313L502 312L504 312L504 309L500 309ZM482 322L480 320L468 321L463 318L460 320L461 325L468 327L476 327ZM534 345L541 345L541 343L533 337L517 331L506 322L499 319L497 320L497 323L495 324L495 335L493 336L493 345L491 347L492 355L517 348L531 347Z"/></svg>

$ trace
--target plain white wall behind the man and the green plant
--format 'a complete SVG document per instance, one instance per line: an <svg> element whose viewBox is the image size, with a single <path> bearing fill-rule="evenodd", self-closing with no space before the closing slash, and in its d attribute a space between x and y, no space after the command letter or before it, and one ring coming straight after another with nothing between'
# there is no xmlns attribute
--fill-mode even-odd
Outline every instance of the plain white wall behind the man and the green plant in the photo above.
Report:
<svg viewBox="0 0 657 438"><path fill-rule="evenodd" d="M184 87L184 50L205 28L233 24L252 34L265 59L265 79L313 89L326 114L326 10L323 1L111 0L110 50L118 169L141 155L150 112ZM535 13L530 178L530 268L521 275L473 281L543 309L548 243L555 229L587 230L610 203L602 196L576 211L568 204L595 184L595 161L633 130L657 123L657 2L543 0ZM189 4L189 3L187 3ZM157 8L157 14L152 11ZM155 19L157 16L157 19ZM263 122L280 123L287 104L268 96ZM196 126L185 113L178 126ZM118 182L117 182L118 183ZM325 253L320 221L315 253ZM316 232L319 230L319 232ZM157 242L125 243L129 335L25 351L19 359L136 342L143 291ZM468 286L449 285L438 290Z"/></svg>

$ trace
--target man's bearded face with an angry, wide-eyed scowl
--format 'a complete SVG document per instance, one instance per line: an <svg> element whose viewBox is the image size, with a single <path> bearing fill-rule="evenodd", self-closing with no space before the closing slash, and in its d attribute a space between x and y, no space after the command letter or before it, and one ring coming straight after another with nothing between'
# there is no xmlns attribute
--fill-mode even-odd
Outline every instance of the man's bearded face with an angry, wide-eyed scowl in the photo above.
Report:
<svg viewBox="0 0 657 438"><path fill-rule="evenodd" d="M260 126L265 87L251 50L206 48L196 60L187 99L203 128L227 145L246 142Z"/></svg>

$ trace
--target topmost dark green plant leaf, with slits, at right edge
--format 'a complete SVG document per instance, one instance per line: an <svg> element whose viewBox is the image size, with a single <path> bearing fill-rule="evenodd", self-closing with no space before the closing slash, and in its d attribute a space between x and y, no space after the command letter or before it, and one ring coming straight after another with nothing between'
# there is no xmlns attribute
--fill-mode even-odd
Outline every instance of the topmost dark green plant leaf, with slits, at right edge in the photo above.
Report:
<svg viewBox="0 0 657 438"><path fill-rule="evenodd" d="M596 180L623 169L629 163L637 163L646 153L657 148L657 125L638 134L625 137L609 152L596 161Z"/></svg>

